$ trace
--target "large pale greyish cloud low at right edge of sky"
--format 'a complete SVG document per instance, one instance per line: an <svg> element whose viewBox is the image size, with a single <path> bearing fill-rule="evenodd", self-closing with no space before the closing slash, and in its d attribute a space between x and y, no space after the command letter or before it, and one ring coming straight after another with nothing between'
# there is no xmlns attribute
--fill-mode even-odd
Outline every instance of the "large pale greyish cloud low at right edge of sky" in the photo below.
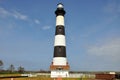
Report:
<svg viewBox="0 0 120 80"><path fill-rule="evenodd" d="M93 56L107 58L110 61L120 60L120 38L108 39L100 45L89 47L88 53Z"/></svg>

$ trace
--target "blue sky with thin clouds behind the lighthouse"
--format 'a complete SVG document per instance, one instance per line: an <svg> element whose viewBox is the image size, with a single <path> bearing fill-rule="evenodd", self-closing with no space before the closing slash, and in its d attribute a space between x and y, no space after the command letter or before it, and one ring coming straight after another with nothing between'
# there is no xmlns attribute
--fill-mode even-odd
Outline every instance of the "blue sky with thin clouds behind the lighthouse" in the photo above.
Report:
<svg viewBox="0 0 120 80"><path fill-rule="evenodd" d="M120 71L120 0L0 0L0 59L4 69L49 70L56 17L66 10L71 70Z"/></svg>

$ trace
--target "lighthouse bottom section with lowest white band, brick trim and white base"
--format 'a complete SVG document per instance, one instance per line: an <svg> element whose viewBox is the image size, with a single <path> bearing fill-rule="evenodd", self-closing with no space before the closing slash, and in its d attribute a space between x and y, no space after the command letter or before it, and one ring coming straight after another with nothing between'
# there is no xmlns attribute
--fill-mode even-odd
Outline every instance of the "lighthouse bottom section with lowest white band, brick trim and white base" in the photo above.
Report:
<svg viewBox="0 0 120 80"><path fill-rule="evenodd" d="M69 77L69 69L67 59L64 57L55 57L53 58L53 62L50 65L51 77Z"/></svg>

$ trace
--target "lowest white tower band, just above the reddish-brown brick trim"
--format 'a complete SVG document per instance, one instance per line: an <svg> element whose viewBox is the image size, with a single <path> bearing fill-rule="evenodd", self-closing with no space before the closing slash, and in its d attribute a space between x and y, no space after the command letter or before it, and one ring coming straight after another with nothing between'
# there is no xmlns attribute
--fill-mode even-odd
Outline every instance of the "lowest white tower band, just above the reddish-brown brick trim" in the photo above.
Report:
<svg viewBox="0 0 120 80"><path fill-rule="evenodd" d="M53 65L67 65L67 59L65 57L54 57Z"/></svg>

